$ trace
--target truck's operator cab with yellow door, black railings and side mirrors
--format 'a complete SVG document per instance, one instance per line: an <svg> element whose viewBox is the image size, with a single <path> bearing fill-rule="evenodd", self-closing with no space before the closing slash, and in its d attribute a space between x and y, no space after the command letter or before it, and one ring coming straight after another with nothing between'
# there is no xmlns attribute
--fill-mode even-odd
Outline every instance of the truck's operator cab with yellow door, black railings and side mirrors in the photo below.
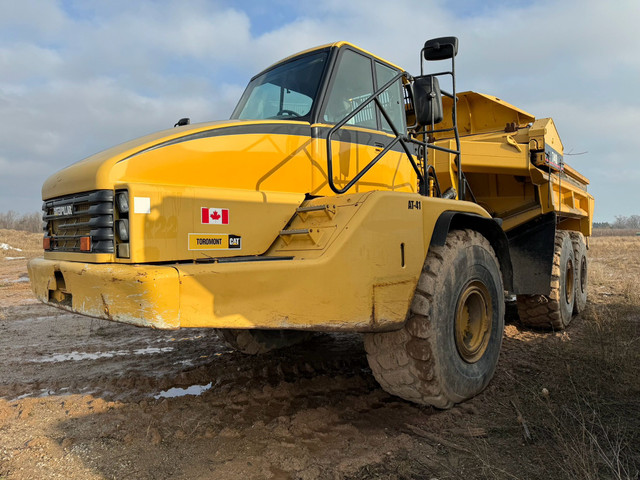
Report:
<svg viewBox="0 0 640 480"><path fill-rule="evenodd" d="M457 50L455 37L427 41L420 56L421 72L423 59L451 59L452 68L450 72L415 79L400 67L347 42L302 52L253 77L231 119L290 121L297 128L300 122L309 125L311 137L326 142L321 156L326 158L327 184L334 193L347 192L390 153L384 159L389 165L396 162L398 155L408 160L408 170L413 171L410 175L416 177L410 183L423 195L464 199L467 182L460 165L456 102L452 107L452 128L437 130L435 126L443 117L437 76L451 75L453 92L442 94L456 98ZM427 160L427 151L436 148L429 142L430 135L447 131L455 138L456 148L437 149L455 155L460 196L456 188L441 192L434 166ZM332 142L339 150L335 155ZM366 149L347 158L345 152L353 145ZM336 157L340 160L337 166ZM355 174L350 165L356 165ZM376 180L368 176L363 182L373 186Z"/></svg>

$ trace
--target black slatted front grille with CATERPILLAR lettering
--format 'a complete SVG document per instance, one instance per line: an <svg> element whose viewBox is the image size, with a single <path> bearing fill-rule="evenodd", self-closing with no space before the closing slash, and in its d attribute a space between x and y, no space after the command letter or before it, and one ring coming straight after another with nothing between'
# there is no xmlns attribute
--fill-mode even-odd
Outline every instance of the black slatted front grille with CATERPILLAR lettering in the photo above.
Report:
<svg viewBox="0 0 640 480"><path fill-rule="evenodd" d="M113 195L113 190L95 190L45 201L42 219L49 251L113 253ZM91 239L90 249L81 249L82 237Z"/></svg>

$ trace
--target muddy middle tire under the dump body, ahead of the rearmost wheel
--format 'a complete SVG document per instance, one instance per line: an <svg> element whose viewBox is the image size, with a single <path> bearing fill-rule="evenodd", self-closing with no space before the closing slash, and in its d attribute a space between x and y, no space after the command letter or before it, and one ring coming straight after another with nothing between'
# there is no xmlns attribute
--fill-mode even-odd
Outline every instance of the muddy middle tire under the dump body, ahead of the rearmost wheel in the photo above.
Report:
<svg viewBox="0 0 640 480"><path fill-rule="evenodd" d="M563 330L573 316L575 304L575 256L569 232L558 230L555 238L551 293L518 295L520 322L530 328Z"/></svg>

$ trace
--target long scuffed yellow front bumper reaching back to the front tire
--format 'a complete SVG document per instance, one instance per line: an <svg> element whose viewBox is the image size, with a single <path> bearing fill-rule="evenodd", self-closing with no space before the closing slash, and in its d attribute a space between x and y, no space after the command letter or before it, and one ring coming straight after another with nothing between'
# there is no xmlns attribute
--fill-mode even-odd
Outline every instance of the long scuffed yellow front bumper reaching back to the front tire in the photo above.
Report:
<svg viewBox="0 0 640 480"><path fill-rule="evenodd" d="M336 278L325 262L300 260L156 266L38 258L29 276L47 304L159 329L389 330L404 321L415 289L410 279Z"/></svg>

